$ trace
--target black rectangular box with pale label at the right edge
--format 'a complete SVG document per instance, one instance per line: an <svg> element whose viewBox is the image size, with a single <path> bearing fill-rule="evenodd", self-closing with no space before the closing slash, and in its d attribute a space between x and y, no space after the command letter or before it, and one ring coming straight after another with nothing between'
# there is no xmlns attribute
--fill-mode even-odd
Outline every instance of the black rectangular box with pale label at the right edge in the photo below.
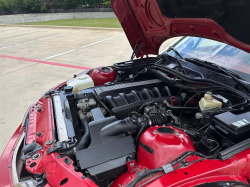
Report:
<svg viewBox="0 0 250 187"><path fill-rule="evenodd" d="M216 129L234 143L250 137L250 112L242 114L225 112L215 116L213 121Z"/></svg>

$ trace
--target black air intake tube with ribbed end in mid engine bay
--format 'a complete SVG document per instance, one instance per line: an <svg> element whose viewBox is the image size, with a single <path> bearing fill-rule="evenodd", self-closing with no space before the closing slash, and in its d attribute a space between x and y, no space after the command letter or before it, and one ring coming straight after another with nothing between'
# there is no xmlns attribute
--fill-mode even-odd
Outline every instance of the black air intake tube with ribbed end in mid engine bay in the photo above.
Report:
<svg viewBox="0 0 250 187"><path fill-rule="evenodd" d="M161 114L148 114L148 115L133 115L123 120L113 122L101 130L103 136L117 136L125 133L133 133L139 130L142 126L148 128L155 125L167 124L167 117Z"/></svg>

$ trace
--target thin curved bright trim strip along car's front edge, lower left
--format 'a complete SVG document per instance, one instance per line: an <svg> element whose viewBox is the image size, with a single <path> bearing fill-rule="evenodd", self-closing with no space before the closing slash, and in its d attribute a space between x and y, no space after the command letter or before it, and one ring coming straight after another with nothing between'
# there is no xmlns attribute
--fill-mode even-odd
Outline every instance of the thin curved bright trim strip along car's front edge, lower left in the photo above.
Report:
<svg viewBox="0 0 250 187"><path fill-rule="evenodd" d="M16 168L16 158L17 158L17 153L18 153L18 150L20 148L20 145L24 139L24 136L25 136L25 132L23 131L20 139L18 140L17 142L17 145L16 145L16 148L15 148L15 151L14 151L14 154L12 156L12 164L11 164L11 169L12 169L12 181L13 181L13 184L17 184L19 182L18 180L18 174L17 174L17 168Z"/></svg>

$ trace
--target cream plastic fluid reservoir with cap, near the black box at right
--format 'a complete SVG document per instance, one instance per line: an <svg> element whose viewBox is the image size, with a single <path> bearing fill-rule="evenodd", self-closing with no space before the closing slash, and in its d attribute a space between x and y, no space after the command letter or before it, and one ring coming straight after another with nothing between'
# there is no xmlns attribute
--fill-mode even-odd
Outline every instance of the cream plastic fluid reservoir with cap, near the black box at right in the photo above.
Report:
<svg viewBox="0 0 250 187"><path fill-rule="evenodd" d="M200 100L199 106L202 112L214 111L222 107L222 102L214 99L211 92L207 92Z"/></svg>

